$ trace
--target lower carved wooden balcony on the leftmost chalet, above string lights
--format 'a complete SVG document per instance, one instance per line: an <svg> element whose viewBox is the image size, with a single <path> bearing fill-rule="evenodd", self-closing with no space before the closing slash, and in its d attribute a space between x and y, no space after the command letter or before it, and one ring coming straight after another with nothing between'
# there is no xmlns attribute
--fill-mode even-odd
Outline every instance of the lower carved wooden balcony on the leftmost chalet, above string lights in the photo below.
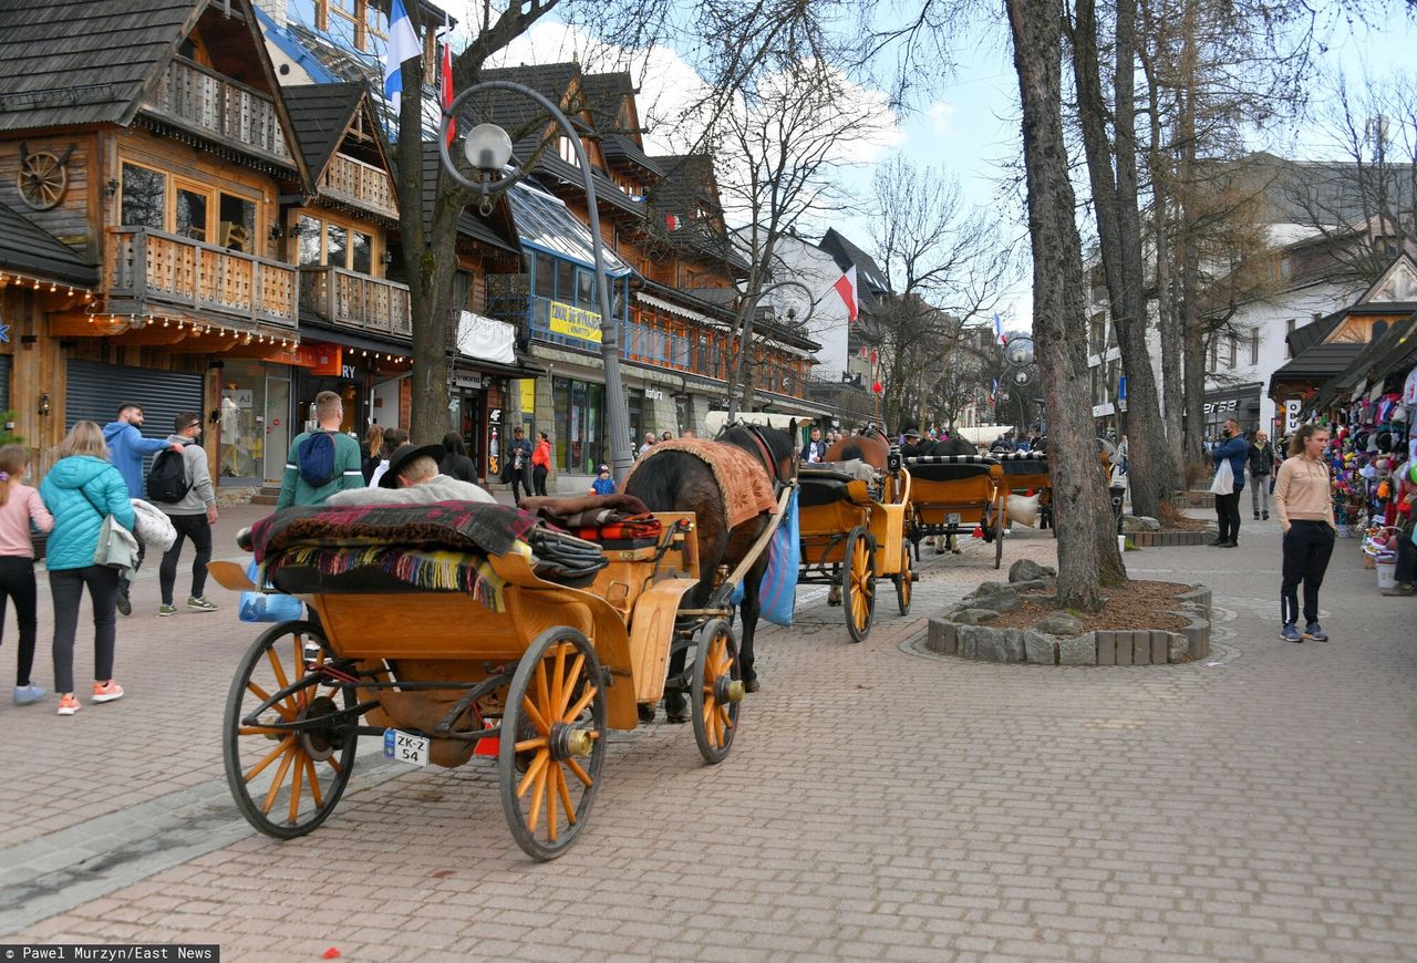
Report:
<svg viewBox="0 0 1417 963"><path fill-rule="evenodd" d="M290 330L299 323L299 273L278 261L150 228L109 228L103 272L111 302L133 310L183 307Z"/></svg>

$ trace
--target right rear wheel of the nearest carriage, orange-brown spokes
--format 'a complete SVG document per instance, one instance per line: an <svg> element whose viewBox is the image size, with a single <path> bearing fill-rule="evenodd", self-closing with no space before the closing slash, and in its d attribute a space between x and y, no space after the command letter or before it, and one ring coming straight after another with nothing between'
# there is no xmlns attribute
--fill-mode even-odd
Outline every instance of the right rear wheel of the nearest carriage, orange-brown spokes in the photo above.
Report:
<svg viewBox="0 0 1417 963"><path fill-rule="evenodd" d="M589 640L557 626L517 663L502 715L497 783L512 838L536 860L565 853L605 763L605 693Z"/></svg>

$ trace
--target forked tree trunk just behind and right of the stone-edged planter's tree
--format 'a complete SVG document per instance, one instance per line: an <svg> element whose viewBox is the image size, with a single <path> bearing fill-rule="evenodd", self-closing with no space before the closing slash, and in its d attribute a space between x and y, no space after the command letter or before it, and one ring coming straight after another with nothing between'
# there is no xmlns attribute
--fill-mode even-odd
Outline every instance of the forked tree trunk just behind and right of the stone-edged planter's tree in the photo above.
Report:
<svg viewBox="0 0 1417 963"><path fill-rule="evenodd" d="M1117 71L1114 96L1115 139L1108 140L1108 105L1102 93L1097 8L1077 0L1073 37L1073 69L1077 81L1078 119L1097 211L1102 272L1117 344L1127 372L1127 426L1131 449L1132 510L1155 517L1175 480L1175 467L1162 432L1156 378L1146 346L1146 300L1142 289L1142 225L1136 200L1136 110L1134 44L1135 0L1117 0ZM1112 177L1115 163L1117 176ZM1121 401L1121 399L1118 399Z"/></svg>

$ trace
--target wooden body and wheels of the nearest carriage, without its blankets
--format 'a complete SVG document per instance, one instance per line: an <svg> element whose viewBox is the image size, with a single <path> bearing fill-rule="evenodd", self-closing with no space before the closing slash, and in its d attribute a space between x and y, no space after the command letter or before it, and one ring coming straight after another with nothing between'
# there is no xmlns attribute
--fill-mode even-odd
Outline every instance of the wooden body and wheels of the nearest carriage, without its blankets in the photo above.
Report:
<svg viewBox="0 0 1417 963"><path fill-rule="evenodd" d="M699 581L694 515L657 518L662 537L604 547L609 564L584 588L538 576L527 551L469 559L496 583L480 599L380 572L279 569L268 591L316 617L266 629L232 681L224 759L242 814L276 838L309 833L344 792L359 738L376 736L415 765L495 756L513 837L554 858L589 816L608 729L633 729L638 707L665 694L670 656L690 647L691 666L667 685L689 697L703 758L723 760L744 693L737 634L727 606L680 610ZM234 562L211 571L256 591Z"/></svg>

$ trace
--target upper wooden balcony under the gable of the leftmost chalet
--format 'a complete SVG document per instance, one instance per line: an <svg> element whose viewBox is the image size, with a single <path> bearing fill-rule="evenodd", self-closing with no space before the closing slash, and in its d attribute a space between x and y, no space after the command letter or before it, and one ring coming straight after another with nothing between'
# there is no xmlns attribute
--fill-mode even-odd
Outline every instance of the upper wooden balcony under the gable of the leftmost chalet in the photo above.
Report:
<svg viewBox="0 0 1417 963"><path fill-rule="evenodd" d="M143 109L220 143L293 164L271 96L181 57L163 71Z"/></svg>

